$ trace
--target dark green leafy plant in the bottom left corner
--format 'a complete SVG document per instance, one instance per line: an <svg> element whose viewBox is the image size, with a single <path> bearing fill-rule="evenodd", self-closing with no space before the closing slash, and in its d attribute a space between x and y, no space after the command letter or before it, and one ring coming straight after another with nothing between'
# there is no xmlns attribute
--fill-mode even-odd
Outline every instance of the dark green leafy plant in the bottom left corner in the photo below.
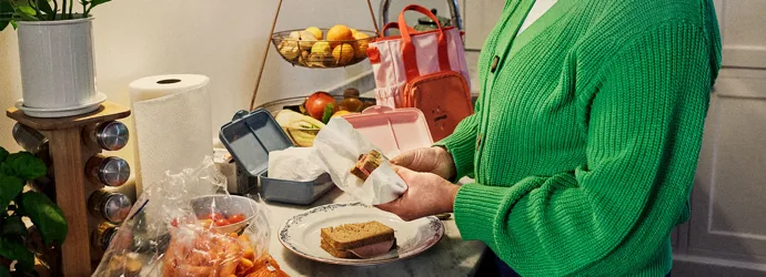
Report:
<svg viewBox="0 0 766 277"><path fill-rule="evenodd" d="M27 182L46 174L46 164L29 152L9 154L0 147L0 277L32 273L36 254L61 245L67 237L67 219L48 196L23 192ZM23 223L29 218L34 232ZM42 245L33 236L39 235ZM14 263L12 263L14 261Z"/></svg>

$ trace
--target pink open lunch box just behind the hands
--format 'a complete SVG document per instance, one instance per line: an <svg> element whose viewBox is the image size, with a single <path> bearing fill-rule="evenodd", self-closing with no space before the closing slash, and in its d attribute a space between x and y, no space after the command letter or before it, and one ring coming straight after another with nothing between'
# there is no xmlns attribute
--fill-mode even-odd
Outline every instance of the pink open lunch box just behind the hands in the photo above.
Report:
<svg viewBox="0 0 766 277"><path fill-rule="evenodd" d="M375 105L343 119L386 154L429 147L434 143L425 116L419 109Z"/></svg>

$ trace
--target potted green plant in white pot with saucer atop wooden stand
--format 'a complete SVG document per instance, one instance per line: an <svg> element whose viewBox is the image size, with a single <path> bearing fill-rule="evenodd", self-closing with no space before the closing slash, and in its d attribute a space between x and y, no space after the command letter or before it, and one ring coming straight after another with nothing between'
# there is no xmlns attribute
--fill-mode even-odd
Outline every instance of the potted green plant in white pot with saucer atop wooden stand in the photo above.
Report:
<svg viewBox="0 0 766 277"><path fill-rule="evenodd" d="M95 88L91 10L110 0L0 0L0 31L18 28L22 101L36 117L91 112Z"/></svg>

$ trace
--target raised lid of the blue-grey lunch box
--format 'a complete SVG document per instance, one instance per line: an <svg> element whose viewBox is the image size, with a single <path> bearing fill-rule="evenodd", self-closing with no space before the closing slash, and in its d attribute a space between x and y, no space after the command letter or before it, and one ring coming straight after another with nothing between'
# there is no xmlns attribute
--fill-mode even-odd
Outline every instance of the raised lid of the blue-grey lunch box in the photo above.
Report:
<svg viewBox="0 0 766 277"><path fill-rule="evenodd" d="M293 146L274 116L263 107L251 113L236 112L231 122L221 126L219 137L251 176L269 170L269 152Z"/></svg>

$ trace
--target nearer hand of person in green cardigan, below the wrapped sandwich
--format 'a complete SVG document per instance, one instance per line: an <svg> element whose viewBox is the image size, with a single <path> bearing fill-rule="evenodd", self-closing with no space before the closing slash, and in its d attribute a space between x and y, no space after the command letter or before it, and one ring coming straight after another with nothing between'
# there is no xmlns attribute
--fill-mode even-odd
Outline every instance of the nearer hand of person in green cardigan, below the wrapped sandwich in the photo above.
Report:
<svg viewBox="0 0 766 277"><path fill-rule="evenodd" d="M393 213L409 222L424 216L452 213L458 185L433 173L422 173L394 166L394 171L404 179L409 188L393 202L377 205L385 212Z"/></svg>

